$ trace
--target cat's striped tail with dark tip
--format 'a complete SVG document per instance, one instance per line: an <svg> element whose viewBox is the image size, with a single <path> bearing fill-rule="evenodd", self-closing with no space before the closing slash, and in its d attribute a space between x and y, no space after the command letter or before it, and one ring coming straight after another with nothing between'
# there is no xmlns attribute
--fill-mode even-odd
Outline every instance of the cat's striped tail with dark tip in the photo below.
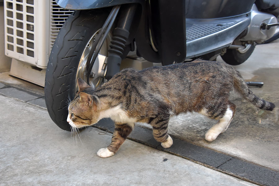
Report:
<svg viewBox="0 0 279 186"><path fill-rule="evenodd" d="M263 110L272 111L275 105L271 102L265 101L257 97L246 85L246 82L243 80L241 74L236 71L233 78L233 85L235 89L247 100L254 104L256 107Z"/></svg>

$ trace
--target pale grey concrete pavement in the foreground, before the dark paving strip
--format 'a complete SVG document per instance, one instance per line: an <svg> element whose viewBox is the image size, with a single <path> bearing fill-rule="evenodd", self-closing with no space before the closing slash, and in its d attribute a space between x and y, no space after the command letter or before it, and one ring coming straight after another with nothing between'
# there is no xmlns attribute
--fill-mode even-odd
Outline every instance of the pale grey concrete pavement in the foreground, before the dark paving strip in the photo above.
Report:
<svg viewBox="0 0 279 186"><path fill-rule="evenodd" d="M0 95L0 185L254 185L126 140L100 158L111 134L88 127L76 142L45 109Z"/></svg>

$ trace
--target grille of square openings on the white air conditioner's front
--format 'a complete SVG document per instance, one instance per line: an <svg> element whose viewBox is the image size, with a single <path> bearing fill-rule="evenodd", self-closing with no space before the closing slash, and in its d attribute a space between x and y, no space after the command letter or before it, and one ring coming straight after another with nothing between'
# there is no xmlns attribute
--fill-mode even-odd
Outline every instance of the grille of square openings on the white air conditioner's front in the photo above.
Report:
<svg viewBox="0 0 279 186"><path fill-rule="evenodd" d="M34 58L34 0L6 0L6 48Z"/></svg>

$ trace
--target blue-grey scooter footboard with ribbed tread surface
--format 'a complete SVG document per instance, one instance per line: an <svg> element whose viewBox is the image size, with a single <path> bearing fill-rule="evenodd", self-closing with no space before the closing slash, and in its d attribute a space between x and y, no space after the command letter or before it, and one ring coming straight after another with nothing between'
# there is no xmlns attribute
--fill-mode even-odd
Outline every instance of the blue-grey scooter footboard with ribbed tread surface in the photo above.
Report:
<svg viewBox="0 0 279 186"><path fill-rule="evenodd" d="M228 47L250 24L250 13L222 19L186 19L187 58Z"/></svg>

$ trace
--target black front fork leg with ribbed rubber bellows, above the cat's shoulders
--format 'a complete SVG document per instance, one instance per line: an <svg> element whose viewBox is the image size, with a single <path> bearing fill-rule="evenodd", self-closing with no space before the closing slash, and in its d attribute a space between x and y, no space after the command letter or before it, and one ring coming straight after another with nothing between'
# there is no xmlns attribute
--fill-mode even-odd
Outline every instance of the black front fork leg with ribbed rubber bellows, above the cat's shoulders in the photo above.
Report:
<svg viewBox="0 0 279 186"><path fill-rule="evenodd" d="M111 79L120 71L120 65L124 48L130 36L130 29L134 20L137 4L122 5L117 26L113 31L113 37L108 50L107 70L105 78Z"/></svg>

